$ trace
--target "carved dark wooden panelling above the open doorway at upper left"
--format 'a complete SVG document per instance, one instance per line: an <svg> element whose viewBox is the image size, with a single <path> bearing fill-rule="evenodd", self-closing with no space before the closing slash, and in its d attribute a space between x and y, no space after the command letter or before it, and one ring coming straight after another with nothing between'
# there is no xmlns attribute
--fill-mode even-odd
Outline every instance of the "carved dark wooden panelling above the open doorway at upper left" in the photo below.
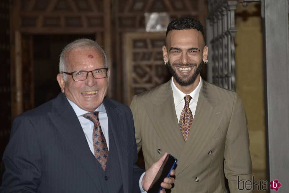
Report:
<svg viewBox="0 0 289 193"><path fill-rule="evenodd" d="M19 6L16 6L19 4ZM104 32L103 0L16 0L15 29L30 33Z"/></svg>

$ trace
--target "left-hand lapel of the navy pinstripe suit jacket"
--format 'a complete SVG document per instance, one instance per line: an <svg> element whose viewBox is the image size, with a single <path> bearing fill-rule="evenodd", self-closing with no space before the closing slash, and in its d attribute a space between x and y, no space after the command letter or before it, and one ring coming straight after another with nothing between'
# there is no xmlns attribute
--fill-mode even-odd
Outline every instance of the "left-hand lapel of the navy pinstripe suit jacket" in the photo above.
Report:
<svg viewBox="0 0 289 193"><path fill-rule="evenodd" d="M96 175L96 164L98 163L89 149L80 122L64 94L58 95L54 100L52 112L48 112L48 116L63 135L63 138L87 174L91 177L98 192L102 192L100 189L101 186L99 186L99 176ZM96 180L96 178L98 178L98 180Z"/></svg>

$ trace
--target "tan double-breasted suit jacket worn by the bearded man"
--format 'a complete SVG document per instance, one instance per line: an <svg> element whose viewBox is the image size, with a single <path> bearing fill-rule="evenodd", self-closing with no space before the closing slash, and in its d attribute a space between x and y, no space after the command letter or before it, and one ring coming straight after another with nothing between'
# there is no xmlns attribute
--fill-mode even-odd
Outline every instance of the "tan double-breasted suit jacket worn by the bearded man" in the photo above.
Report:
<svg viewBox="0 0 289 193"><path fill-rule="evenodd" d="M165 152L178 159L172 192L226 192L224 176L231 193L245 192L238 189L238 176L242 189L240 180L251 179L252 163L247 117L235 92L203 81L186 142L170 81L134 96L131 109L146 169Z"/></svg>

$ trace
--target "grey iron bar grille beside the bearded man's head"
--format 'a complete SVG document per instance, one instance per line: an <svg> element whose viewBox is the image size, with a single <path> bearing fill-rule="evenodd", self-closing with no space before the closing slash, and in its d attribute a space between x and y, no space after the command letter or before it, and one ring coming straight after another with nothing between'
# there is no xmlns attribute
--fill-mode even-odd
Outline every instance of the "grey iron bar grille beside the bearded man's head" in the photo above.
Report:
<svg viewBox="0 0 289 193"><path fill-rule="evenodd" d="M237 1L209 0L206 20L208 81L218 86L236 90L235 65L235 10Z"/></svg>

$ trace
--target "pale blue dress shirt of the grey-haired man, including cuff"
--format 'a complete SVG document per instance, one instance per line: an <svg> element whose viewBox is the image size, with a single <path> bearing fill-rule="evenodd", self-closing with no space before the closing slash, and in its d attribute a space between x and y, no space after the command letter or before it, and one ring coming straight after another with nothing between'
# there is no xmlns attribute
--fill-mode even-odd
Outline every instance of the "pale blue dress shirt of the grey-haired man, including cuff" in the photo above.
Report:
<svg viewBox="0 0 289 193"><path fill-rule="evenodd" d="M86 137L88 146L90 148L91 153L94 155L94 149L93 149L93 141L92 141L92 134L93 134L93 127L94 124L91 120L88 120L84 118L82 115L88 113L88 111L85 111L81 108L79 108L74 102L70 101L67 99L71 107L73 108L80 125L83 129L84 135ZM107 148L109 149L109 135L108 135L108 117L106 114L106 110L104 108L104 104L101 103L95 111L98 111L98 119L99 119L99 124L101 126L102 133L104 134ZM139 179L139 189L141 190L142 193L145 193L144 189L142 189L142 178L144 177L145 172L142 174L142 176Z"/></svg>

